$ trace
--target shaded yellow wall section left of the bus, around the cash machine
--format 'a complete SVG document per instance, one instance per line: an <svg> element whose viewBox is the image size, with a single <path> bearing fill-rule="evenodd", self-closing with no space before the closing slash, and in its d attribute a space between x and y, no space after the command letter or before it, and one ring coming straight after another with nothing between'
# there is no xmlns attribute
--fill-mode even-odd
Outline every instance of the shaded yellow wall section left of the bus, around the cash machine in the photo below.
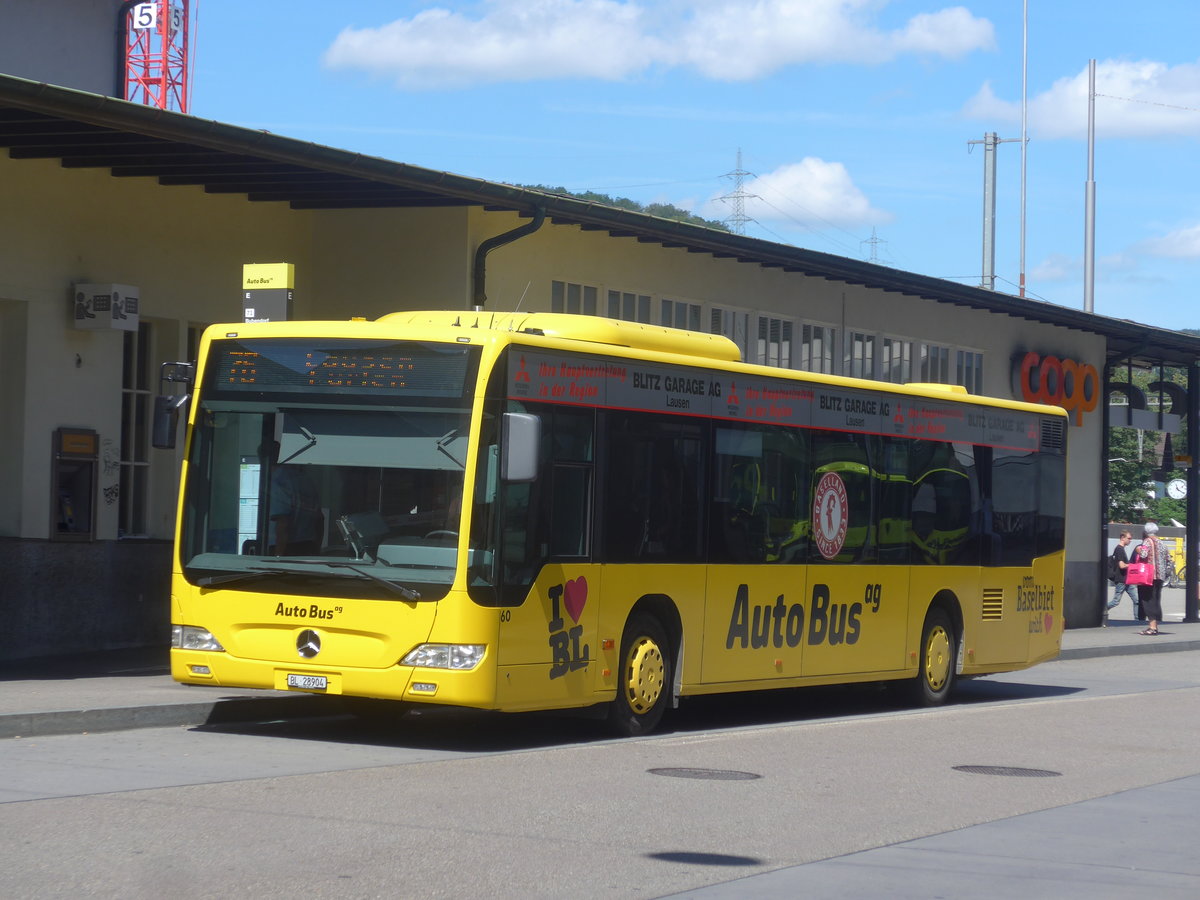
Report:
<svg viewBox="0 0 1200 900"><path fill-rule="evenodd" d="M0 439L0 535L50 535L52 436L82 427L101 444L96 535L113 539L118 504L106 502L104 488L119 479L124 332L77 330L71 286L140 290L156 378L160 361L182 354L188 324L241 318L242 263L294 262L304 290L311 216L107 169L7 157L0 157L0 209L8 211L0 216L0 346L24 348L0 358L6 427L12 422L22 436L19 446ZM176 460L152 454L149 536L170 538Z"/></svg>

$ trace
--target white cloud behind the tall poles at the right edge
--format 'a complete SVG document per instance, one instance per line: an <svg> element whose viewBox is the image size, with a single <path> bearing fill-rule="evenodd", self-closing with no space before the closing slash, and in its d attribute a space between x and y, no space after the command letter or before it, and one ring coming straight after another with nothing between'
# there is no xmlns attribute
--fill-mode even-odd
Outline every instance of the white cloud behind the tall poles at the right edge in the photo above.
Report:
<svg viewBox="0 0 1200 900"><path fill-rule="evenodd" d="M1097 137L1200 134L1200 64L1103 60L1096 64L1096 94ZM1021 104L1001 100L984 84L962 112L972 119L1016 124ZM1034 137L1086 138L1087 67L1031 97L1027 113Z"/></svg>

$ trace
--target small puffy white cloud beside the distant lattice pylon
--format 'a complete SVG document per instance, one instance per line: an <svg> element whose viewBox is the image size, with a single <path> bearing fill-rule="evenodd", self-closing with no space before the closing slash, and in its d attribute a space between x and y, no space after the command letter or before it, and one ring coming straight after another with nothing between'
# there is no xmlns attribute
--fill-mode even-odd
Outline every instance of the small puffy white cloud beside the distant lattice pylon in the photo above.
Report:
<svg viewBox="0 0 1200 900"><path fill-rule="evenodd" d="M745 214L757 222L822 228L883 224L892 215L871 206L840 162L809 156L744 184ZM719 197L706 208L712 218L726 218L730 206Z"/></svg>

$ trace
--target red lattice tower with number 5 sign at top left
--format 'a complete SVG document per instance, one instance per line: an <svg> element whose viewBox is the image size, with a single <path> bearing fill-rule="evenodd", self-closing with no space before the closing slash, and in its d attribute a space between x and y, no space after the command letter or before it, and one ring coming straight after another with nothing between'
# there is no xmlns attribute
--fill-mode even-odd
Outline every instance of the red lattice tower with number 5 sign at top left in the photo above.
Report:
<svg viewBox="0 0 1200 900"><path fill-rule="evenodd" d="M124 2L125 98L187 112L188 0Z"/></svg>

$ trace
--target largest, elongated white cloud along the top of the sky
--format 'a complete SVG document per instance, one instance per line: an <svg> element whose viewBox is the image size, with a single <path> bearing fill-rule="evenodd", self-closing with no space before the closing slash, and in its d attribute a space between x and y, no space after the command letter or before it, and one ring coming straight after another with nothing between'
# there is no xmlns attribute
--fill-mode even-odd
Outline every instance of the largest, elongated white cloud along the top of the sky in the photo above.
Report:
<svg viewBox="0 0 1200 900"><path fill-rule="evenodd" d="M347 28L331 68L406 89L557 78L619 80L685 67L746 80L811 62L878 64L901 54L958 59L995 44L961 6L881 30L887 0L485 0L476 18L433 7L378 28Z"/></svg>

